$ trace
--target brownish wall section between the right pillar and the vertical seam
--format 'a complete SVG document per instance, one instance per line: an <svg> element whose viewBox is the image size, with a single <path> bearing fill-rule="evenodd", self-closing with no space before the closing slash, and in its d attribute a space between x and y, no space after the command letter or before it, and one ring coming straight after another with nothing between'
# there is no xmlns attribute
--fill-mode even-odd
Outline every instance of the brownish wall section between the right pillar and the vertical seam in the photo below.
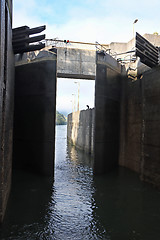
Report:
<svg viewBox="0 0 160 240"><path fill-rule="evenodd" d="M132 82L128 78L122 81L119 164L139 173L142 157L142 81Z"/></svg>

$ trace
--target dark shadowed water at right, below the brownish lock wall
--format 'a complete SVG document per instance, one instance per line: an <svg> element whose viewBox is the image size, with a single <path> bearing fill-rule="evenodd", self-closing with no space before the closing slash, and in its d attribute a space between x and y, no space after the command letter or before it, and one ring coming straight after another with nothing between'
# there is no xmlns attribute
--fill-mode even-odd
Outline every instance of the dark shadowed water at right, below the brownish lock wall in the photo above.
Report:
<svg viewBox="0 0 160 240"><path fill-rule="evenodd" d="M110 239L160 239L160 192L122 167L107 176L95 177L94 186L94 214Z"/></svg>

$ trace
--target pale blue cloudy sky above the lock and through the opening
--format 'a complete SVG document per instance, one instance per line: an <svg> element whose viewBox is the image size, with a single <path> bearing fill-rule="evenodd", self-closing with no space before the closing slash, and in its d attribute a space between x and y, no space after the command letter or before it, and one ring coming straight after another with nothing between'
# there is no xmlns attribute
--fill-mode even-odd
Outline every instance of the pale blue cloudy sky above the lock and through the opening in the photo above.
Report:
<svg viewBox="0 0 160 240"><path fill-rule="evenodd" d="M133 38L135 19L138 19L134 25L135 31L141 35L160 34L159 9L159 0L14 0L13 27L46 25L46 38L51 39L106 44L128 42ZM85 108L86 104L94 106L94 81L80 82L81 108ZM57 87L57 110L71 111L69 101L76 91L74 80L60 79ZM86 94L84 89L90 91ZM62 98L66 107L60 107L63 105Z"/></svg>

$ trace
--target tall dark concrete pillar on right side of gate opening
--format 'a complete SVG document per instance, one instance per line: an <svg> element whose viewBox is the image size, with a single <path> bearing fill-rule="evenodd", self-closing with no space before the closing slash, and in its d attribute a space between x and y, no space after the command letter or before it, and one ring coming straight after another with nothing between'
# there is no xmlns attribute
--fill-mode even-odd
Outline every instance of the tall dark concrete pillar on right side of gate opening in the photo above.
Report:
<svg viewBox="0 0 160 240"><path fill-rule="evenodd" d="M118 165L121 65L97 53L95 84L94 172L103 174Z"/></svg>

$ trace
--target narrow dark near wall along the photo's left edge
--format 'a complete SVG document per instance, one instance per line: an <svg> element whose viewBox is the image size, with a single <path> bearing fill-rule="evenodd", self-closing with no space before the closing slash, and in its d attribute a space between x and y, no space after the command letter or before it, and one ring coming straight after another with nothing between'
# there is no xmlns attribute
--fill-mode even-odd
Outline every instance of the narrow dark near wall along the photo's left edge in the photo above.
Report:
<svg viewBox="0 0 160 240"><path fill-rule="evenodd" d="M14 107L12 1L0 1L0 222L11 186Z"/></svg>

